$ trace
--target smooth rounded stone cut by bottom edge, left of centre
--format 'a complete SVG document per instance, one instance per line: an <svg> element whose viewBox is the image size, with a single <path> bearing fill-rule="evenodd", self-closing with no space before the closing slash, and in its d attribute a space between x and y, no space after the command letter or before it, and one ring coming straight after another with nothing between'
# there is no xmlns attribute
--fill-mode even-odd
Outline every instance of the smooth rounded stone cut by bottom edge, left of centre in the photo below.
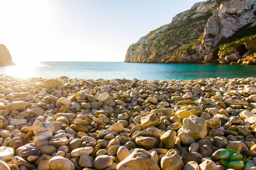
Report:
<svg viewBox="0 0 256 170"><path fill-rule="evenodd" d="M49 160L51 170L75 170L75 165L61 156L54 156Z"/></svg>

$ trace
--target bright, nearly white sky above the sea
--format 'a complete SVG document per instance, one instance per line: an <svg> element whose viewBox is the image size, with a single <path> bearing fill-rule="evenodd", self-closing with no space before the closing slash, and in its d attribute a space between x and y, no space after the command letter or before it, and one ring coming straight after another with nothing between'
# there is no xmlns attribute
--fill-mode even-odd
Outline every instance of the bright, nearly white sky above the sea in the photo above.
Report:
<svg viewBox="0 0 256 170"><path fill-rule="evenodd" d="M122 62L140 37L203 0L0 0L14 62Z"/></svg>

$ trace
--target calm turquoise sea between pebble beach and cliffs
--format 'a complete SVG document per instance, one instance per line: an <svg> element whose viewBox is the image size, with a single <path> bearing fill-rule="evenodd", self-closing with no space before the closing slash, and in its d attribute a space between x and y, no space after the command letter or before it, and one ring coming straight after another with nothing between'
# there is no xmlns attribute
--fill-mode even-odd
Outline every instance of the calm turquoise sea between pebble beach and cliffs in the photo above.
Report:
<svg viewBox="0 0 256 170"><path fill-rule="evenodd" d="M31 66L33 65L33 66ZM256 77L256 65L147 64L125 62L39 62L0 67L0 74L27 78L205 79Z"/></svg>

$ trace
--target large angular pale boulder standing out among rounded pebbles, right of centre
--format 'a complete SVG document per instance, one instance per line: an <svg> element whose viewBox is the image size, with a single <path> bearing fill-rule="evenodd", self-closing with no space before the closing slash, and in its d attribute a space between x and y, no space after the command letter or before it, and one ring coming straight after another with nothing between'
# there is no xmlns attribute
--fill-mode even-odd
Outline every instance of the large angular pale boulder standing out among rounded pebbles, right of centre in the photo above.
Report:
<svg viewBox="0 0 256 170"><path fill-rule="evenodd" d="M198 116L190 116L182 121L182 129L195 140L203 139L207 135L207 122Z"/></svg>

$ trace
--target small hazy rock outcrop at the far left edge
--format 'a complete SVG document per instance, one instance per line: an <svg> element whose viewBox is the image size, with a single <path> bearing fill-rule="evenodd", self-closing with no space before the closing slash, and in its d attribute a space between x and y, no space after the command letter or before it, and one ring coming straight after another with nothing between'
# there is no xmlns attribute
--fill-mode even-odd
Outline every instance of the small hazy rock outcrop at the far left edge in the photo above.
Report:
<svg viewBox="0 0 256 170"><path fill-rule="evenodd" d="M0 66L9 66L9 65L15 65L15 63L12 62L12 56L9 53L6 46L3 44L0 44Z"/></svg>

